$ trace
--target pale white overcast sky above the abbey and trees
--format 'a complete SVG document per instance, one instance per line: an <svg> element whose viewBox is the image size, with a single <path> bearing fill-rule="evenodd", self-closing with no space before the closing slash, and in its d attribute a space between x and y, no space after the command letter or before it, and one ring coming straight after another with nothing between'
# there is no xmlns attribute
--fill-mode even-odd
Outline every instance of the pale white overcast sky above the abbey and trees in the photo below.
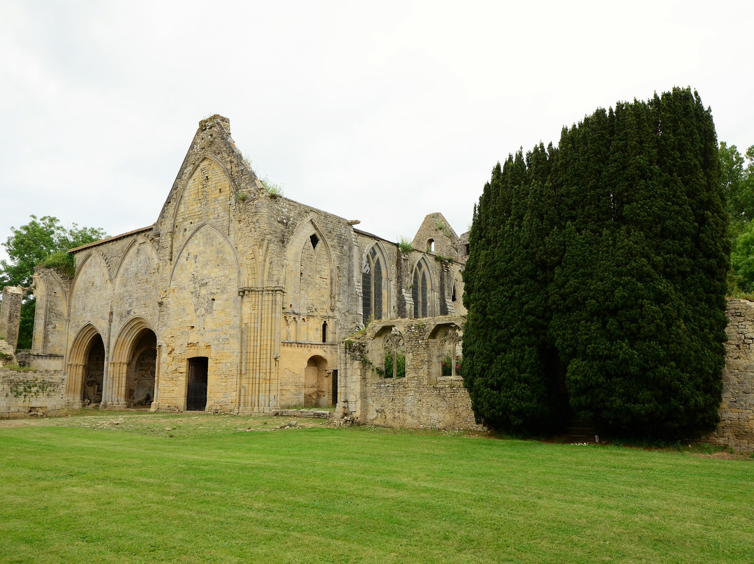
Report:
<svg viewBox="0 0 754 564"><path fill-rule="evenodd" d="M460 234L496 161L617 100L690 85L754 144L752 23L731 0L0 0L0 242L31 213L150 225L214 113L289 198Z"/></svg>

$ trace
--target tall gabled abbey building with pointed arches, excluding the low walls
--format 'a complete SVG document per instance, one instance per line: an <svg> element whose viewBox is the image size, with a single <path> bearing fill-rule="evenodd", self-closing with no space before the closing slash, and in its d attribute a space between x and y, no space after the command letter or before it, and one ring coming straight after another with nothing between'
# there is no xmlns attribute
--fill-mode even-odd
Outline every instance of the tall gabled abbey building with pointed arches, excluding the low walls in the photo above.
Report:
<svg viewBox="0 0 754 564"><path fill-rule="evenodd" d="M72 280L36 273L25 358L60 371L70 408L351 413L342 339L370 320L463 313L465 256L439 213L417 234L434 253L357 223L268 193L228 120L207 118L154 225L72 250Z"/></svg>

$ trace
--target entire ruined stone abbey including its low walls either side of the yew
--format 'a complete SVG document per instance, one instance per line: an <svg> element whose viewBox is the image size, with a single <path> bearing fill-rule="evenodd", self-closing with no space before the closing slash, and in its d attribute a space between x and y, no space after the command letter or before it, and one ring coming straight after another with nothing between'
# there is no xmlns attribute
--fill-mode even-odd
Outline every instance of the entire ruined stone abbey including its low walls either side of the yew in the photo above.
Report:
<svg viewBox="0 0 754 564"><path fill-rule="evenodd" d="M35 274L36 372L0 368L0 417L100 405L336 417L474 428L461 375L469 253L440 213L412 244L268 192L231 139L201 121L153 225L73 249L75 276ZM6 288L0 366L23 291ZM721 424L754 449L754 305L731 300Z"/></svg>

